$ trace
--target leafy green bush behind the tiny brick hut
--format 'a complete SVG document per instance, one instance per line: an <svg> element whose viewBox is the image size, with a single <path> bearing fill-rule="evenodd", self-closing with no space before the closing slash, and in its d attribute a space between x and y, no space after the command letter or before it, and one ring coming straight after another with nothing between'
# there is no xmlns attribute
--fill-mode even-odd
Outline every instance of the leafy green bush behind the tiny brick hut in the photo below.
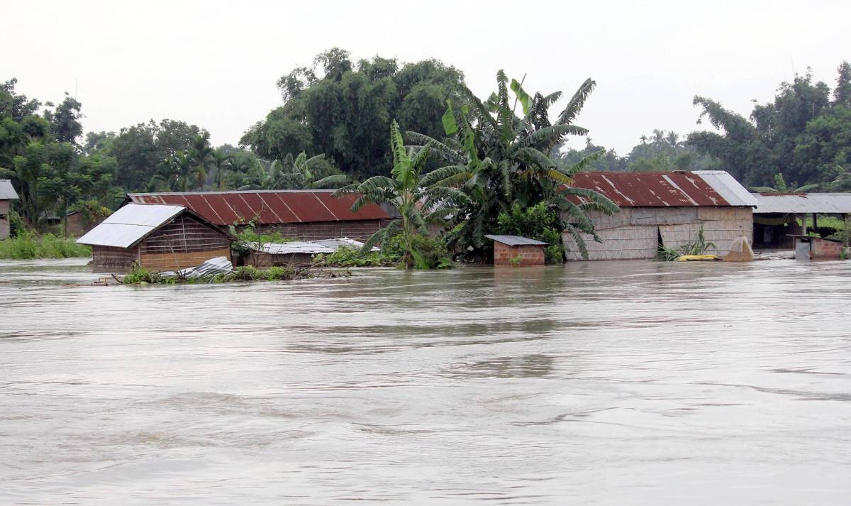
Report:
<svg viewBox="0 0 851 506"><path fill-rule="evenodd" d="M561 220L558 218L558 211L551 210L545 202L526 209L514 204L510 212L501 212L496 221L496 233L544 241L548 244L544 248L545 262L564 262Z"/></svg>

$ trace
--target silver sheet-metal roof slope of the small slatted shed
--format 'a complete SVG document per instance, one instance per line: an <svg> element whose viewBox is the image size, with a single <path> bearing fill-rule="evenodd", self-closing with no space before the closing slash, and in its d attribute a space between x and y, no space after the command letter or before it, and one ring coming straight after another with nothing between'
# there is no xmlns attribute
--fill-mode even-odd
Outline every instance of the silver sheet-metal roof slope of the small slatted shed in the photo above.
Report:
<svg viewBox="0 0 851 506"><path fill-rule="evenodd" d="M182 205L127 204L77 239L79 244L129 248L186 210Z"/></svg>

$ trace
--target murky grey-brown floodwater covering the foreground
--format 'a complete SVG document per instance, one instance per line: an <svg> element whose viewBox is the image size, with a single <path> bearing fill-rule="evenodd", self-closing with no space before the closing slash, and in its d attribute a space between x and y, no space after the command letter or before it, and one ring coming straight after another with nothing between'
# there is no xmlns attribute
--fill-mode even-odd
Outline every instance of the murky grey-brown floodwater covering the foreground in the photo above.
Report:
<svg viewBox="0 0 851 506"><path fill-rule="evenodd" d="M0 262L0 504L848 504L851 263Z"/></svg>

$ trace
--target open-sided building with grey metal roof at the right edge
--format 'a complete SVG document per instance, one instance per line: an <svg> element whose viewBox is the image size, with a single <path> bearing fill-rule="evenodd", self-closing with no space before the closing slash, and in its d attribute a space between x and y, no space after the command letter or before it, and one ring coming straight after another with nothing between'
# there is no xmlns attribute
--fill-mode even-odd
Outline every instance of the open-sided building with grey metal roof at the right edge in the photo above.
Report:
<svg viewBox="0 0 851 506"><path fill-rule="evenodd" d="M817 215L838 216L846 230L851 228L851 193L753 193L753 197L757 200L753 210L753 241L757 248L792 248L793 236L807 235L808 216L812 217L813 232L819 229ZM830 248L825 244L821 250Z"/></svg>

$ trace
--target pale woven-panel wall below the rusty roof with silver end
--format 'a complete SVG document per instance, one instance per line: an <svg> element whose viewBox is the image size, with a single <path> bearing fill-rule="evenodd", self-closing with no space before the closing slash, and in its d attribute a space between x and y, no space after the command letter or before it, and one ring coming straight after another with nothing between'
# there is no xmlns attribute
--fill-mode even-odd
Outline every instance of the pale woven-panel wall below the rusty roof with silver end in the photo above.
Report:
<svg viewBox="0 0 851 506"><path fill-rule="evenodd" d="M703 227L707 241L715 243L711 253L720 256L729 252L734 240L742 235L753 237L753 216L749 207L664 207L628 208L614 216L599 211L588 213L603 243L594 242L582 234L589 260L627 260L654 258L662 244L676 248L694 240ZM579 246L570 233L562 240L568 260L582 260Z"/></svg>

